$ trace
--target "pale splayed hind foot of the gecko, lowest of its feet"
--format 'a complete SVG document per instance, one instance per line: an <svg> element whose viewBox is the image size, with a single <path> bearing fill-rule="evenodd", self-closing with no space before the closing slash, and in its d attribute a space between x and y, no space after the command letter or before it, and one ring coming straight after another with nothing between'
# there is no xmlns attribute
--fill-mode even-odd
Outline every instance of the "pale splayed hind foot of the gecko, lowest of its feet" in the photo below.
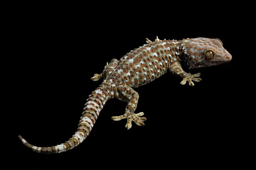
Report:
<svg viewBox="0 0 256 170"><path fill-rule="evenodd" d="M144 126L145 124L143 123L145 120L147 120L145 117L139 117L139 116L143 116L144 113L143 112L140 112L140 113L137 113L137 114L127 114L125 113L124 115L121 115L121 116L113 116L111 117L111 119L113 119L114 121L118 121L118 120L121 120L121 119L127 119L127 123L125 125L125 127L127 129L131 129L131 121L134 121L137 125L139 126Z"/></svg>

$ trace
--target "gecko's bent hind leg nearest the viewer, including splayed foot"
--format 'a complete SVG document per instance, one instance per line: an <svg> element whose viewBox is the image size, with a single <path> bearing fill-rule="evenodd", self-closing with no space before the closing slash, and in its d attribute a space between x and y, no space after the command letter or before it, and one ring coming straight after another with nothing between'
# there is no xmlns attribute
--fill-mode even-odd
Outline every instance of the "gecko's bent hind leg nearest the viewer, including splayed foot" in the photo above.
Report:
<svg viewBox="0 0 256 170"><path fill-rule="evenodd" d="M140 116L143 116L144 113L143 112L140 112L137 114L134 113L134 111L137 108L137 103L139 99L139 94L136 91L134 91L131 87L127 85L120 85L116 88L115 97L121 101L128 102L128 104L125 108L125 114L121 116L112 117L114 121L127 119L127 123L125 125L127 129L131 128L132 121L134 121L136 125L139 125L139 126L145 125L143 122L147 119L145 117L140 117Z"/></svg>

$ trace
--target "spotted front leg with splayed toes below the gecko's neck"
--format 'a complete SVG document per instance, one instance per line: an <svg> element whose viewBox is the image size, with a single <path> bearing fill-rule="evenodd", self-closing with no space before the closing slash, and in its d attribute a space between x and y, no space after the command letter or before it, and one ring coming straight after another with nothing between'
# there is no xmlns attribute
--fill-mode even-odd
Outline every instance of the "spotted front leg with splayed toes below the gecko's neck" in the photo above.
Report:
<svg viewBox="0 0 256 170"><path fill-rule="evenodd" d="M171 71L172 74L176 74L177 76L183 78L183 80L180 82L181 85L185 85L186 82L188 81L190 86L194 86L195 84L192 82L192 80L194 80L195 82L200 82L202 80L201 78L196 78L196 77L199 77L201 73L198 73L198 74L186 73L181 68L181 65L179 62L173 63L170 66L169 70Z"/></svg>

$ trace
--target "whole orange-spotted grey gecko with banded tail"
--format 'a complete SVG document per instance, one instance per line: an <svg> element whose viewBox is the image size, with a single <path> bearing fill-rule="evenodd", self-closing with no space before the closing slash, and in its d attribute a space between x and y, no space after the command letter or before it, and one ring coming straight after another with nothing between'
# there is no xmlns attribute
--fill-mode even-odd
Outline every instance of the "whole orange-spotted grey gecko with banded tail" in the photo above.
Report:
<svg viewBox="0 0 256 170"><path fill-rule="evenodd" d="M119 61L112 59L101 74L94 74L93 81L103 79L101 85L89 95L75 134L66 142L52 147L36 147L18 136L21 142L36 153L62 153L81 144L96 122L105 103L112 98L127 102L125 113L113 116L114 121L127 119L125 127L130 129L132 122L143 126L143 112L135 113L139 94L134 90L170 71L180 77L181 85L186 82L194 86L200 82L200 73L190 74L183 68L202 68L230 62L231 54L224 49L218 38L191 38L183 40L148 40L147 44L132 50Z"/></svg>

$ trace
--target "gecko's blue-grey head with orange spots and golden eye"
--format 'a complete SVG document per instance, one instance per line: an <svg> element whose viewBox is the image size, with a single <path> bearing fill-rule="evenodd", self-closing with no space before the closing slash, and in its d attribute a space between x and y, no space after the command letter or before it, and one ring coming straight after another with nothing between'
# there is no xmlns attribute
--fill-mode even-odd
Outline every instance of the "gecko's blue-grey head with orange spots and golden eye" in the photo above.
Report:
<svg viewBox="0 0 256 170"><path fill-rule="evenodd" d="M185 45L185 61L187 67L201 68L230 62L232 56L223 48L218 38L195 38L183 40Z"/></svg>

